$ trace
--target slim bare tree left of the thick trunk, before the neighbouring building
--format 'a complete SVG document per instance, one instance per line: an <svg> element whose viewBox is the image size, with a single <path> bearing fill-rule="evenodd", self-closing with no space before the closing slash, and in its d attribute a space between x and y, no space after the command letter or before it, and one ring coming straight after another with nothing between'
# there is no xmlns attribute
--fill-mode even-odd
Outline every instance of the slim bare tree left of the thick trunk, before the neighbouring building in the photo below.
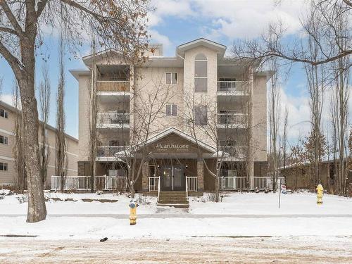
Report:
<svg viewBox="0 0 352 264"><path fill-rule="evenodd" d="M13 106L15 107L15 127L14 127L14 144L13 144L13 157L15 159L15 169L17 172L17 189L18 193L23 194L26 187L26 172L25 172L25 153L23 151L23 123L22 111L20 109L20 94L18 85L15 83L13 87Z"/></svg>

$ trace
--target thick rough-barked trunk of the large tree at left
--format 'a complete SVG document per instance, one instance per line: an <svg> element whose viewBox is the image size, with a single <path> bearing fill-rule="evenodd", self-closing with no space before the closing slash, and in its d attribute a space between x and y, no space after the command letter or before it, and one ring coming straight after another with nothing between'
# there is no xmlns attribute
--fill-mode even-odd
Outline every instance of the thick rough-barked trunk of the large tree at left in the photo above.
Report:
<svg viewBox="0 0 352 264"><path fill-rule="evenodd" d="M35 32L37 24L32 23L27 27L28 34L20 42L23 69L16 75L22 104L23 118L23 146L27 172L28 212L27 222L39 222L46 218L46 207L43 191L42 177L40 175L39 156L39 122L37 100L34 93L35 69ZM34 32L34 34L32 34ZM34 37L30 37L34 36Z"/></svg>

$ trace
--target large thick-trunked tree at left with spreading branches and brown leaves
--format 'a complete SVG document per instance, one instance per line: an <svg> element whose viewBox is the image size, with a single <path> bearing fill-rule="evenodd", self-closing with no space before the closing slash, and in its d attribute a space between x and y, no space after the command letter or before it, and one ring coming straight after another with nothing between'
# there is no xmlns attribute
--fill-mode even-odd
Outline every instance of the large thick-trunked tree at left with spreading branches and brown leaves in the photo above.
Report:
<svg viewBox="0 0 352 264"><path fill-rule="evenodd" d="M100 46L115 49L125 58L143 58L148 37L145 26L148 4L148 0L0 1L0 54L18 81L23 109L27 222L46 218L34 95L36 50L46 41L42 35L44 27L55 30L57 25L62 25L63 37L72 50L82 44L82 33L91 27L93 34L99 37Z"/></svg>

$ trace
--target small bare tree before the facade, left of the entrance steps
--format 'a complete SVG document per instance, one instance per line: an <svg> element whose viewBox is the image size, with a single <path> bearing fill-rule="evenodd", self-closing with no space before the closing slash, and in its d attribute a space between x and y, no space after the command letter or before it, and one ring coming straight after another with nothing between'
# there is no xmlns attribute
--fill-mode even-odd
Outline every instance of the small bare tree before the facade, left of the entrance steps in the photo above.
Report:
<svg viewBox="0 0 352 264"><path fill-rule="evenodd" d="M127 166L127 185L132 198L135 194L134 184L153 156L153 149L149 148L146 142L151 136L163 130L160 121L165 117L167 103L175 95L170 92L170 85L163 84L164 80L162 76L160 79L150 80L140 89L132 89L131 101L134 101L134 107L130 115L134 116L134 124L130 128L130 144L116 155L118 162ZM153 88L144 91L150 86Z"/></svg>

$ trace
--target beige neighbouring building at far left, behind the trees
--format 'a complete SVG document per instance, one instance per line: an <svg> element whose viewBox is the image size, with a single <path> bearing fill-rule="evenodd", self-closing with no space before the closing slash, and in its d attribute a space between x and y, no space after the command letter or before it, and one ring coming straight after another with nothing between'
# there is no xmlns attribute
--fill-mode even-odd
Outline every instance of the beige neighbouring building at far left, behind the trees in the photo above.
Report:
<svg viewBox="0 0 352 264"><path fill-rule="evenodd" d="M17 172L15 169L15 160L13 158L14 145L14 127L16 115L20 112L13 106L0 101L0 188L15 187ZM39 122L42 126L42 122ZM47 168L47 177L44 182L44 189L51 188L51 175L55 175L55 157L56 157L56 129L46 125L49 161ZM42 139L42 130L39 127L39 146ZM68 175L77 175L78 159L78 140L66 134L67 140L67 157L68 157Z"/></svg>

